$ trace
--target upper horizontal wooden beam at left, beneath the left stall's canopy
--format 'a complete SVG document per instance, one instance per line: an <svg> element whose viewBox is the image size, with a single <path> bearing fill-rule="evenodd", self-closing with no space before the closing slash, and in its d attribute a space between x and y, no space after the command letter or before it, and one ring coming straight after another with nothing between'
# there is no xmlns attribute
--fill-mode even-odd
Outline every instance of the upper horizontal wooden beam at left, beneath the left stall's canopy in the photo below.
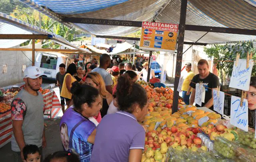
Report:
<svg viewBox="0 0 256 162"><path fill-rule="evenodd" d="M43 35L43 34L0 34L0 39L52 39L52 35Z"/></svg>

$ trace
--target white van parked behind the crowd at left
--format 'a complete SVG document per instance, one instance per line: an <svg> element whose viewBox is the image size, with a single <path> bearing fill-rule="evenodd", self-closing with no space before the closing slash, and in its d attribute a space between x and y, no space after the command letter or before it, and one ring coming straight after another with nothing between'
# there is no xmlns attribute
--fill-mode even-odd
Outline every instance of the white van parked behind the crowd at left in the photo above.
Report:
<svg viewBox="0 0 256 162"><path fill-rule="evenodd" d="M69 64L69 58L58 52L38 52L35 66L47 76L47 79L56 79L56 74L59 72L59 65L64 63L66 68Z"/></svg>

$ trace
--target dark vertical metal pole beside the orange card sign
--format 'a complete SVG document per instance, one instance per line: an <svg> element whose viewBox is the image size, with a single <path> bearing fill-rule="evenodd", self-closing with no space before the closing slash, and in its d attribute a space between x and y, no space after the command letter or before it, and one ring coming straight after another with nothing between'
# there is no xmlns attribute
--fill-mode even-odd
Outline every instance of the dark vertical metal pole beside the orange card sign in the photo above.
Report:
<svg viewBox="0 0 256 162"><path fill-rule="evenodd" d="M179 78L180 78L178 76L180 76L180 74L181 74L181 63L182 63L182 52L183 52L183 44L184 44L187 3L188 3L188 0L181 0L180 26L179 26L177 57L176 57L176 69L175 69L174 96L173 96L172 113L175 113L175 112L178 111L179 92L177 91L177 88L178 88Z"/></svg>

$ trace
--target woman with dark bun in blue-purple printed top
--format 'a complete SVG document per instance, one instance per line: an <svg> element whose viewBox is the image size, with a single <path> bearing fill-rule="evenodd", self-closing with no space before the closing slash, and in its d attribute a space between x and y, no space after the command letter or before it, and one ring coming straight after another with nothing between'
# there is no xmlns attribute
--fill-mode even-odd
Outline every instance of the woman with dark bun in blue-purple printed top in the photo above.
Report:
<svg viewBox="0 0 256 162"><path fill-rule="evenodd" d="M60 137L65 151L74 152L80 162L89 162L96 135L96 125L88 118L102 108L99 91L89 85L72 83L73 102L60 121Z"/></svg>

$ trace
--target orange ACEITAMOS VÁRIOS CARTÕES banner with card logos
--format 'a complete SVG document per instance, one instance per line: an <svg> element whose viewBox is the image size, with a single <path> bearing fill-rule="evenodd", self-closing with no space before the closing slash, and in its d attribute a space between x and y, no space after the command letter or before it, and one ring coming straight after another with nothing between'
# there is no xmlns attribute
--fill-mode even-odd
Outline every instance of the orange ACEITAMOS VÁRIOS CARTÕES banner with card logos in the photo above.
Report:
<svg viewBox="0 0 256 162"><path fill-rule="evenodd" d="M176 49L178 24L142 22L140 49L172 52Z"/></svg>

